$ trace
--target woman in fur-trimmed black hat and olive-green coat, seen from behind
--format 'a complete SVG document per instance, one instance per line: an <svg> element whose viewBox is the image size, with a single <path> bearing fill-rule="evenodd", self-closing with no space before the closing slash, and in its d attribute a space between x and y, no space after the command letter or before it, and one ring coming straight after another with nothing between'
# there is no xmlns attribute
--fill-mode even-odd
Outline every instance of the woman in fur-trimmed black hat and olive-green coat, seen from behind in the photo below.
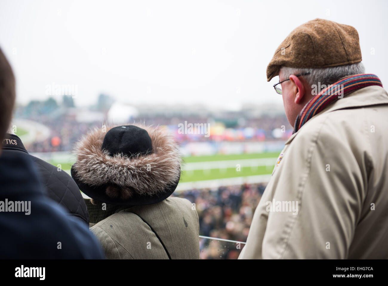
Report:
<svg viewBox="0 0 388 286"><path fill-rule="evenodd" d="M87 201L90 230L110 259L199 259L194 205L169 196L180 178L174 138L143 125L95 129L76 145L71 176Z"/></svg>

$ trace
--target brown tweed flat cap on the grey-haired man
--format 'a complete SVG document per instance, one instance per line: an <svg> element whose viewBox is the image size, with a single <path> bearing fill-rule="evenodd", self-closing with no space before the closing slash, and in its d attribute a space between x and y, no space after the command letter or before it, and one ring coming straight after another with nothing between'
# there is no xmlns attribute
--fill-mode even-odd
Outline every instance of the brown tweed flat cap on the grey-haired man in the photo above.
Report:
<svg viewBox="0 0 388 286"><path fill-rule="evenodd" d="M267 81L279 75L281 66L327 68L361 60L355 28L317 18L294 29L279 45L267 66Z"/></svg>

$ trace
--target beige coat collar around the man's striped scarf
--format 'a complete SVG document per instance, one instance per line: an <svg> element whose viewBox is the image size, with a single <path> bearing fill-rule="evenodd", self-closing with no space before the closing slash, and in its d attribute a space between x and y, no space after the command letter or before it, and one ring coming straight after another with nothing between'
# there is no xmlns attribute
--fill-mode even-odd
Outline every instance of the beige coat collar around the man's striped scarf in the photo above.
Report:
<svg viewBox="0 0 388 286"><path fill-rule="evenodd" d="M362 89L354 91L348 94L347 96L345 96L344 98L341 98L335 101L333 104L327 106L324 110L317 113L314 117L319 116L320 114L323 114L326 112L332 112L334 110L373 106L373 105L388 105L388 93L381 86L372 85L372 86L364 87ZM303 126L301 127L301 129L303 129ZM289 143L291 143L291 141L294 140L295 136L299 132L300 130L292 134L290 138L288 138L286 143L284 143L284 145L288 145Z"/></svg>

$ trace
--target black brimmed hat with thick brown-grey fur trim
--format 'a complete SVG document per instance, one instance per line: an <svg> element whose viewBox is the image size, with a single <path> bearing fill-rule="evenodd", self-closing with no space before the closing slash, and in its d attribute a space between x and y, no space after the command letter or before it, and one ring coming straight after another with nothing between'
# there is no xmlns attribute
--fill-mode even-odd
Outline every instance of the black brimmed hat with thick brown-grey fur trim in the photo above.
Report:
<svg viewBox="0 0 388 286"><path fill-rule="evenodd" d="M143 125L107 129L95 129L76 145L71 176L80 190L97 201L125 206L169 197L180 179L175 139Z"/></svg>

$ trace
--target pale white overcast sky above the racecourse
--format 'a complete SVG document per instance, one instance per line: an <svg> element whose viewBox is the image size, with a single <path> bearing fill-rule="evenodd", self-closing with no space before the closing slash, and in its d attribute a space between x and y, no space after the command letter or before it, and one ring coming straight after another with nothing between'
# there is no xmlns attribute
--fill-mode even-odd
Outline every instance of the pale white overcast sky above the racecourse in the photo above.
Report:
<svg viewBox="0 0 388 286"><path fill-rule="evenodd" d="M77 105L104 92L130 104L234 108L282 102L267 64L317 17L354 26L366 72L387 85L387 12L388 1L0 0L0 47L19 103L48 98L54 82L76 85Z"/></svg>

